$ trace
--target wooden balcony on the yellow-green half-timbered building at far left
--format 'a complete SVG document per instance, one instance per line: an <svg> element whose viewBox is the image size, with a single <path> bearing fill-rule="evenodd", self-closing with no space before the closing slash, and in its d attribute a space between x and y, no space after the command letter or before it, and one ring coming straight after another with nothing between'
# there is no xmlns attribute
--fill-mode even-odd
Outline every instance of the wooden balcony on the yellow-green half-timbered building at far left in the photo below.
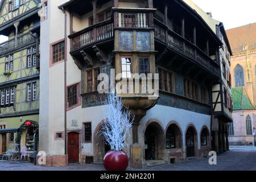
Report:
<svg viewBox="0 0 256 182"><path fill-rule="evenodd" d="M0 44L0 55L34 42L36 42L36 39L29 32L20 34L17 36L16 40L11 39Z"/></svg>

